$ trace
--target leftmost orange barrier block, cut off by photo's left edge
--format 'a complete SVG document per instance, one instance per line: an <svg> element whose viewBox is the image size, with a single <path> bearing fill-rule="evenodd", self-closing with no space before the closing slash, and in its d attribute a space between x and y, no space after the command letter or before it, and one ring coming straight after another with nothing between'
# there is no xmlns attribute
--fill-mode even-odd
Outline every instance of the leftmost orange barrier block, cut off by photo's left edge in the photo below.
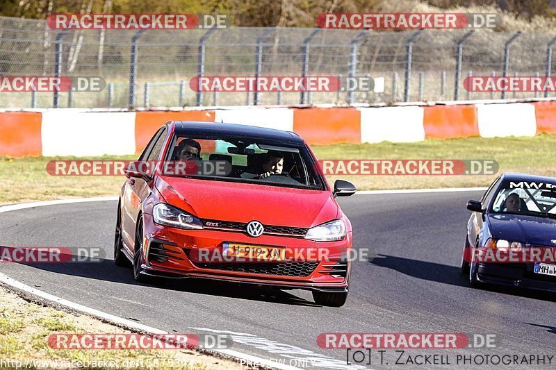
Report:
<svg viewBox="0 0 556 370"><path fill-rule="evenodd" d="M0 113L0 156L40 157L41 121L38 112Z"/></svg>

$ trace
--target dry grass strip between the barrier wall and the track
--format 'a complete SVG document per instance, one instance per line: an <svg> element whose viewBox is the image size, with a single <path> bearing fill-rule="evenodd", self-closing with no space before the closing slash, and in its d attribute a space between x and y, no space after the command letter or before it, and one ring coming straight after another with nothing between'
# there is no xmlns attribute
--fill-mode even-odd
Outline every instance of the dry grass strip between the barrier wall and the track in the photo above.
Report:
<svg viewBox="0 0 556 370"><path fill-rule="evenodd" d="M535 137L472 137L416 143L337 144L313 146L319 159L481 159L496 160L500 172L556 176L556 135ZM117 195L120 176L50 176L49 160L64 158L0 158L0 204L85 196ZM135 156L79 158L132 160ZM423 189L487 186L493 176L329 176L352 181L359 190Z"/></svg>

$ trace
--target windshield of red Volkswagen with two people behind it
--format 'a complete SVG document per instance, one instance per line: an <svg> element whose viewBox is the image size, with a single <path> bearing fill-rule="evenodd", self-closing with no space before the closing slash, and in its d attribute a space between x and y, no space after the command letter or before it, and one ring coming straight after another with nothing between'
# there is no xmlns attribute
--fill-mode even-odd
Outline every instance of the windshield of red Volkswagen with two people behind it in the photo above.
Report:
<svg viewBox="0 0 556 370"><path fill-rule="evenodd" d="M206 180L325 190L303 144L228 135L174 135L167 161L193 161L197 171L170 174Z"/></svg>

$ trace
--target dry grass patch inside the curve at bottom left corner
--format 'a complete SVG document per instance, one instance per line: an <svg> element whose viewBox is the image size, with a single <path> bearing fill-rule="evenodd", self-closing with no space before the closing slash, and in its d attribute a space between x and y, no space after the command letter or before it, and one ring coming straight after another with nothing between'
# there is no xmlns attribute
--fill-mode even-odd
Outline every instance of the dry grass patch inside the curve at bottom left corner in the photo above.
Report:
<svg viewBox="0 0 556 370"><path fill-rule="evenodd" d="M91 317L72 314L25 301L0 287L0 369L27 367L51 369L76 367L122 369L133 360L144 367L161 369L242 369L240 364L189 350L59 350L51 348L48 337L54 333L130 333ZM124 360L128 360L125 362ZM147 366L151 364L152 366ZM114 367L113 367L114 368Z"/></svg>

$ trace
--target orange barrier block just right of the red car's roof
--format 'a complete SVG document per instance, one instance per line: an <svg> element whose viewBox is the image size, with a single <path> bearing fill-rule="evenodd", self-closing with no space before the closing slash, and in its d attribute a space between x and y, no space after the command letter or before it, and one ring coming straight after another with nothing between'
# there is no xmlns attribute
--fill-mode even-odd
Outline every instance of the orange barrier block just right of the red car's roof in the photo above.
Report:
<svg viewBox="0 0 556 370"><path fill-rule="evenodd" d="M293 131L316 145L361 143L361 112L355 108L298 108Z"/></svg>

